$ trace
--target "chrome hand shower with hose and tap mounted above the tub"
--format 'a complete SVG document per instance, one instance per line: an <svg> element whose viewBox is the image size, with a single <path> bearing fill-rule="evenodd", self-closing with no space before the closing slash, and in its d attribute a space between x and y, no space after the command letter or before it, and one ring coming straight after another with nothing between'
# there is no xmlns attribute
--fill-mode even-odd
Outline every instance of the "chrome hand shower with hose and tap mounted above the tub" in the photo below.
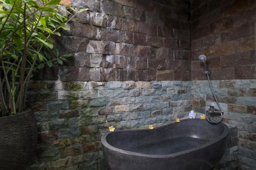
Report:
<svg viewBox="0 0 256 170"><path fill-rule="evenodd" d="M210 106L210 108L205 112L206 119L208 120L208 122L210 122L212 124L216 124L216 123L221 122L224 112L222 111L221 106L220 106L220 104L219 104L219 102L218 102L218 100L216 98L216 95L214 93L214 89L212 89L212 85L211 85L210 78L209 78L211 72L210 72L210 70L208 70L208 67L206 65L206 56L205 55L200 55L199 56L199 60L204 63L204 68L205 68L204 73L206 74L206 76L208 78L210 89L212 91L212 94L214 94L214 98L215 98L215 100L216 100L216 102L218 104L218 107L219 107L219 109L216 109L216 108L214 108L214 106ZM212 115L213 116L220 115L220 118L217 119L217 120L214 120L211 117Z"/></svg>

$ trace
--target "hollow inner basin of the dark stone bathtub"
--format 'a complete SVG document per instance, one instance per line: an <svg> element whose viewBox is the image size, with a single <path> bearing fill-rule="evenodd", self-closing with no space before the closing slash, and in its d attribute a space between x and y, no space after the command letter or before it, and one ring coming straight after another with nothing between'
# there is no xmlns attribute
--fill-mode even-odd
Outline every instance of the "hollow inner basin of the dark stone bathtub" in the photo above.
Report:
<svg viewBox="0 0 256 170"><path fill-rule="evenodd" d="M153 130L115 131L106 141L115 148L142 154L165 155L198 147L217 139L223 124L210 124L202 119L187 119Z"/></svg>

